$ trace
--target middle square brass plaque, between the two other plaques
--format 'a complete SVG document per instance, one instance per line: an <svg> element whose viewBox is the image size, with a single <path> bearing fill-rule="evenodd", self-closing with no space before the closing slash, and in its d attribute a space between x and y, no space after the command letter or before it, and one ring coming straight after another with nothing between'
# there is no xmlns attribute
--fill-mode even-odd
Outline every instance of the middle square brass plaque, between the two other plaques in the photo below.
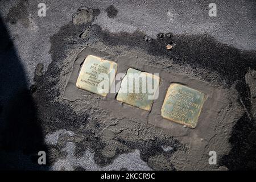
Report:
<svg viewBox="0 0 256 182"><path fill-rule="evenodd" d="M129 68L118 91L117 100L126 104L150 110L158 98L160 78L157 75Z"/></svg>

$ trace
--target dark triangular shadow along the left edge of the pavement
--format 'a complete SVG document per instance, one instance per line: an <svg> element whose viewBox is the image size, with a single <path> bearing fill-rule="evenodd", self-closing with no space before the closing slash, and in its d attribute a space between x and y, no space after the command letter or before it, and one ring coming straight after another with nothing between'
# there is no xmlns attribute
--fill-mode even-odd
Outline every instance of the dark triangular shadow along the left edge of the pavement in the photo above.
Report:
<svg viewBox="0 0 256 182"><path fill-rule="evenodd" d="M36 106L5 22L0 16L0 169L46 170L46 151Z"/></svg>

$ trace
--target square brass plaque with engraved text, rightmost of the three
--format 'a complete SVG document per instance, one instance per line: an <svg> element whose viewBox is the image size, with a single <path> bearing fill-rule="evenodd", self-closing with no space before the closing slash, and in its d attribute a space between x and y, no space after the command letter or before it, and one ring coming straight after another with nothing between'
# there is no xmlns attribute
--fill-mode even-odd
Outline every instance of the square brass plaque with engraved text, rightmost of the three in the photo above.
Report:
<svg viewBox="0 0 256 182"><path fill-rule="evenodd" d="M195 128L205 94L180 84L171 84L162 106L162 117Z"/></svg>

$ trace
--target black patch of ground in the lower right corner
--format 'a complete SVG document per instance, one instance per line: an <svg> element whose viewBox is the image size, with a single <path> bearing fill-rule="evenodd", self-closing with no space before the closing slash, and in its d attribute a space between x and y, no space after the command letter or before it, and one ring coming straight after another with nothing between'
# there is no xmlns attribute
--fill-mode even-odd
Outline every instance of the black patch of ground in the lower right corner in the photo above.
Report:
<svg viewBox="0 0 256 182"><path fill-rule="evenodd" d="M230 170L256 169L256 121L252 114L250 88L245 79L238 81L236 89L246 107L245 112L232 129L229 142L232 149L222 156L220 163Z"/></svg>

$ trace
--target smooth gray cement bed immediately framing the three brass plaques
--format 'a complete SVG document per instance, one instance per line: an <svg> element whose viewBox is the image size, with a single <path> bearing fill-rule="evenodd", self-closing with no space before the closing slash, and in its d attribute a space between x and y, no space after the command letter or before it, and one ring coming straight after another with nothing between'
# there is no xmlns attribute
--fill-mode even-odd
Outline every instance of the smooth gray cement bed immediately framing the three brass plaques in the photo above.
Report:
<svg viewBox="0 0 256 182"><path fill-rule="evenodd" d="M214 110L218 110L218 108L221 107L220 103L218 102L218 98L224 97L221 96L221 90L217 89L216 86L210 85L207 82L203 82L200 80L196 80L195 78L188 77L185 75L180 75L176 73L168 73L161 69L154 68L154 67L148 67L146 64L146 60L140 59L139 62L137 59L135 59L133 56L129 56L128 54L125 56L118 56L114 57L112 55L108 55L108 53L104 53L101 51L97 51L97 49L92 49L89 47L86 47L82 49L82 51L77 55L75 62L73 64L73 72L71 73L71 76L69 78L69 81L67 83L66 89L65 89L65 98L69 101L74 101L74 98L77 100L82 100L83 96L94 96L93 94L78 89L76 87L76 80L77 76L80 70L80 65L83 63L85 57L87 55L97 55L100 57L104 57L104 59L110 59L115 61L118 64L118 72L117 73L126 73L128 68L134 68L139 69L141 71L145 71L148 73L159 73L160 76L160 85L159 85L159 98L154 101L154 104L152 106L152 109L150 112L143 111L141 109L138 109L137 107L130 106L123 104L121 102L118 102L115 100L116 93L112 94L109 93L106 98L100 97L98 100L98 106L101 109L104 109L106 111L109 111L114 117L116 118L140 118L140 121L151 123L152 125L155 125L157 127L162 127L163 129L170 129L174 130L172 133L173 135L184 135L184 129L180 125L167 121L166 119L163 119L160 115L160 108L162 107L164 97L166 96L166 92L168 89L168 86L171 83L179 83L183 85L187 85L191 88L200 90L201 92L205 93L207 95L207 100L205 101L203 111L200 114L199 118L199 126L196 131L201 131L201 135L205 135L208 133L208 131L200 130L200 128L204 128L209 126L210 118L214 118ZM117 92L118 90L116 90ZM219 104L219 105L217 105ZM111 107L109 107L111 105ZM133 113L133 114L131 114ZM212 115L213 114L213 115ZM193 130L187 130L187 131L193 131ZM195 131L193 131L195 132Z"/></svg>

